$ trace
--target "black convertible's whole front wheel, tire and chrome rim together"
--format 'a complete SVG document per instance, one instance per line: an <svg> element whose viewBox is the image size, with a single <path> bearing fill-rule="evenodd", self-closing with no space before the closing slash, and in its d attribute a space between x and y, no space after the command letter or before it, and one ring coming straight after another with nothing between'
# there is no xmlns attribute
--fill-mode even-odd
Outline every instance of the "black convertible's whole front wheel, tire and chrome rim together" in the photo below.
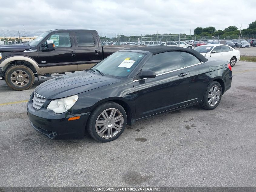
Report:
<svg viewBox="0 0 256 192"><path fill-rule="evenodd" d="M119 121L115 123L115 119ZM98 123L96 124L97 121ZM126 123L125 109L115 102L108 101L97 106L92 111L86 124L86 129L96 141L109 142L117 139L124 132Z"/></svg>

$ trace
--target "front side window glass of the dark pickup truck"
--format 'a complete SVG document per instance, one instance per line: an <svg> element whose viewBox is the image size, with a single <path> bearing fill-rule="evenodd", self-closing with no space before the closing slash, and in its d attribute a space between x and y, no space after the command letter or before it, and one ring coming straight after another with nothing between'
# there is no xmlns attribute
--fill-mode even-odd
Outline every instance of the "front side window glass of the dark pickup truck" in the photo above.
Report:
<svg viewBox="0 0 256 192"><path fill-rule="evenodd" d="M47 40L53 40L55 48L58 47L71 47L69 33L54 33Z"/></svg>

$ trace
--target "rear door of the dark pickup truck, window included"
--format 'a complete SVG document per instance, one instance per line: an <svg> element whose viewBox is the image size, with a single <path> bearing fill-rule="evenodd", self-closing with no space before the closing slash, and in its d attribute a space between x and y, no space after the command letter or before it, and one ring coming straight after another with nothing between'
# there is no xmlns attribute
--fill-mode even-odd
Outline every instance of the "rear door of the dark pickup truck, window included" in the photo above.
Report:
<svg viewBox="0 0 256 192"><path fill-rule="evenodd" d="M74 37L78 71L90 69L102 60L102 50L95 32L77 31Z"/></svg>

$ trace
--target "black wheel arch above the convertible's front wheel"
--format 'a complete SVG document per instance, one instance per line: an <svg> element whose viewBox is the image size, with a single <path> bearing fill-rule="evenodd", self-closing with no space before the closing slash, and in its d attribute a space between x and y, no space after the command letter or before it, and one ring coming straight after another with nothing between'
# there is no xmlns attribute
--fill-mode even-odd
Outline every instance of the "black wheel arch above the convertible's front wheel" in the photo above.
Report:
<svg viewBox="0 0 256 192"><path fill-rule="evenodd" d="M130 105L128 104L128 101L121 97L110 97L110 98L100 100L97 103L95 103L93 106L91 106L90 111L93 111L97 106L101 105L102 103L108 102L108 101L115 102L115 103L121 105L125 109L128 125L132 125L135 122L136 119L135 119L135 117L133 117L135 114L132 112L132 109L131 109Z"/></svg>

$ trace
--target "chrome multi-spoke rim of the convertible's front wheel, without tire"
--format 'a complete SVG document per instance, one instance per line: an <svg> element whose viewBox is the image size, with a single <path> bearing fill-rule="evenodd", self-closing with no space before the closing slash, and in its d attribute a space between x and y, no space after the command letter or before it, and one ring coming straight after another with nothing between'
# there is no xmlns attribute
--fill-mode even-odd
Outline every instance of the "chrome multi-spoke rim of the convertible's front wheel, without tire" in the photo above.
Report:
<svg viewBox="0 0 256 192"><path fill-rule="evenodd" d="M120 132L123 122L124 117L118 109L106 109L98 116L96 120L96 132L102 138L112 138Z"/></svg>

